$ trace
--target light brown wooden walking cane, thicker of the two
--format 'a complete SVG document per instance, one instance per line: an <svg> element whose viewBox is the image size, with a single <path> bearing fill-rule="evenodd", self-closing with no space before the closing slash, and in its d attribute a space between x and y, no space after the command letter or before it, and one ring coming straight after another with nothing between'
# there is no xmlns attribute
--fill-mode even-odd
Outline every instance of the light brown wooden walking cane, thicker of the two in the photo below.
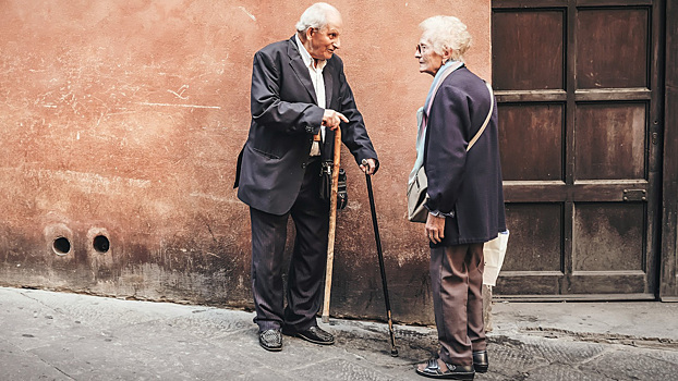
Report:
<svg viewBox="0 0 678 381"><path fill-rule="evenodd" d="M332 290L332 262L335 261L335 232L337 230L337 188L339 187L339 162L341 156L341 128L335 130L332 158L332 190L329 197L329 232L327 233L327 270L325 271L325 299L323 322L329 323L329 295Z"/></svg>

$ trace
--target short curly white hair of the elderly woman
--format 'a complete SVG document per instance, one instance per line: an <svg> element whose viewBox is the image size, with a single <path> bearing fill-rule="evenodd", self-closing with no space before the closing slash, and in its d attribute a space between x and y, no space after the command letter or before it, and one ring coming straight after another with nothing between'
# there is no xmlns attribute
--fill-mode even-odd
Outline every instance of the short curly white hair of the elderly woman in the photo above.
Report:
<svg viewBox="0 0 678 381"><path fill-rule="evenodd" d="M471 34L467 25L455 16L433 16L424 20L419 27L423 38L431 44L433 51L443 56L452 54L452 60L463 61L463 53L471 47Z"/></svg>

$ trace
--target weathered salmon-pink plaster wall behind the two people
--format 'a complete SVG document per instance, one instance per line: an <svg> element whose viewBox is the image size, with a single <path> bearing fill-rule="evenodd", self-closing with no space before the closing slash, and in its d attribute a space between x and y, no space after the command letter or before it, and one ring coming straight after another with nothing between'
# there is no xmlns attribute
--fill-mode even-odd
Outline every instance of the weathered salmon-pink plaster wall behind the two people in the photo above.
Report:
<svg viewBox="0 0 678 381"><path fill-rule="evenodd" d="M232 183L252 56L289 38L312 1L271 3L0 2L0 283L250 305L249 212ZM373 182L394 314L429 322L422 226L404 218L414 112L431 83L413 58L417 24L459 16L474 37L467 62L489 78L489 0L332 4L382 160ZM350 205L338 217L332 314L382 316L365 183L343 153Z"/></svg>

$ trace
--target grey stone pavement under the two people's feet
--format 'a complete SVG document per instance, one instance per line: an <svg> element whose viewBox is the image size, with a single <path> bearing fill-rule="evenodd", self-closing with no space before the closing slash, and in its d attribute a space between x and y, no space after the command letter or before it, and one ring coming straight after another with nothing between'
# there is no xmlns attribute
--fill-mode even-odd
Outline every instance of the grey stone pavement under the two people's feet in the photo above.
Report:
<svg viewBox="0 0 678 381"><path fill-rule="evenodd" d="M678 304L498 303L475 380L676 380ZM425 380L433 328L332 320L258 346L252 312L0 287L0 380ZM319 320L319 319L318 319Z"/></svg>

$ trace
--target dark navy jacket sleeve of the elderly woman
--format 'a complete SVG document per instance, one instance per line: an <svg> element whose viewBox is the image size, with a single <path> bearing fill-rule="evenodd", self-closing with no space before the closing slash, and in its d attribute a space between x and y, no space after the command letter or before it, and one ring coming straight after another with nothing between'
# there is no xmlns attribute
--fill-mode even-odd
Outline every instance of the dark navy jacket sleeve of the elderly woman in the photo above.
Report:
<svg viewBox="0 0 678 381"><path fill-rule="evenodd" d="M468 100L452 86L438 89L428 116L424 168L428 210L453 211L465 174L470 115Z"/></svg>

